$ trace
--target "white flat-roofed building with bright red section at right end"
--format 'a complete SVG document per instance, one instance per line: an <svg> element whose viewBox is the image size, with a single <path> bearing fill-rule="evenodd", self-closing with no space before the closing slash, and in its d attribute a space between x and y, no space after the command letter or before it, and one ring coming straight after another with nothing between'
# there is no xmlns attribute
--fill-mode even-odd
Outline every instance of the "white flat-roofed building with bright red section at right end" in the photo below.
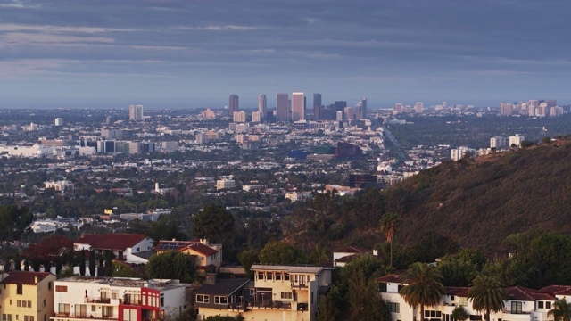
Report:
<svg viewBox="0 0 571 321"><path fill-rule="evenodd" d="M54 282L55 321L175 319L188 309L186 289L178 280L72 276Z"/></svg>

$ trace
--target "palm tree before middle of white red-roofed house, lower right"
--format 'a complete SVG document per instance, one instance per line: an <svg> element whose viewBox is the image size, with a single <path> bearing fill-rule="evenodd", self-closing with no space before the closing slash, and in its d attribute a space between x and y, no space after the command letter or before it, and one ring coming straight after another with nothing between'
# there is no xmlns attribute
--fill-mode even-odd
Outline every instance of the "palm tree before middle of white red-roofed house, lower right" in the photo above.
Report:
<svg viewBox="0 0 571 321"><path fill-rule="evenodd" d="M508 294L496 276L478 275L468 289L468 299L476 311L484 311L484 319L490 321L490 312L500 312Z"/></svg>

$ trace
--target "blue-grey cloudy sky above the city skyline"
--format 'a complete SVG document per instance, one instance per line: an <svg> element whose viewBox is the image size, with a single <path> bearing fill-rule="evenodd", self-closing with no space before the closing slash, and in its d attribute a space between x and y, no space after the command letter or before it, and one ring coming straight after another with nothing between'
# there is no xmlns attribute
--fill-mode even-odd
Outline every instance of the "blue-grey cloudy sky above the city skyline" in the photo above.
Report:
<svg viewBox="0 0 571 321"><path fill-rule="evenodd" d="M571 103L571 1L0 0L0 108Z"/></svg>

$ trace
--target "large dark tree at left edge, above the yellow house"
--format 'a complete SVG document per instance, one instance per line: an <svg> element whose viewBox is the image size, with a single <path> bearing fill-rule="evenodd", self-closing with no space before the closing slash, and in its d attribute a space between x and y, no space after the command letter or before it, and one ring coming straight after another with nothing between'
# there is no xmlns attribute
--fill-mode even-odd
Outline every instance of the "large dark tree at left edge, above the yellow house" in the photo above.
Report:
<svg viewBox="0 0 571 321"><path fill-rule="evenodd" d="M33 219L28 208L0 205L0 242L20 239Z"/></svg>

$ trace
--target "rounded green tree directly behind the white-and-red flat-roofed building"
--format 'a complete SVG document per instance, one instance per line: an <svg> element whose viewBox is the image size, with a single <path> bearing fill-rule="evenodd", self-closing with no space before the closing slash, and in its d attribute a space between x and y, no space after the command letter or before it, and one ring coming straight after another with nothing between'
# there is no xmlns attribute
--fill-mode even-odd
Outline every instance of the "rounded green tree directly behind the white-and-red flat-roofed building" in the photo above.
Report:
<svg viewBox="0 0 571 321"><path fill-rule="evenodd" d="M196 276L194 256L179 251L166 251L155 254L145 266L148 278L178 279L192 283Z"/></svg>

